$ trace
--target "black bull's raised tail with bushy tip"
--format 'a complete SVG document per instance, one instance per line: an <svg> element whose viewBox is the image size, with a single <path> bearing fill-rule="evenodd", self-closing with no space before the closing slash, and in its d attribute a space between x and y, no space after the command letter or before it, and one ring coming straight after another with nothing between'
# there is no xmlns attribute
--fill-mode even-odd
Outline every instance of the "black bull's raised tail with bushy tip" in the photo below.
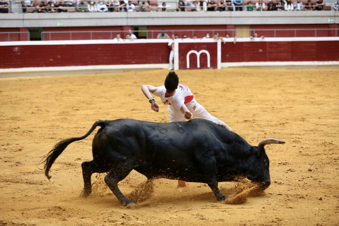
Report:
<svg viewBox="0 0 339 226"><path fill-rule="evenodd" d="M93 130L97 127L97 126L101 126L101 128L105 127L105 121L97 121L93 124L92 128L89 129L89 131L82 137L74 137L74 138L69 138L66 140L62 140L59 143L57 143L53 149L51 151L49 151L47 153L47 155L45 155L43 158L45 158L45 160L42 163L45 163L43 169L45 170L45 176L48 178L48 180L51 178L51 176L49 176L49 171L51 170L52 164L54 163L54 161L59 157L59 155L62 153L63 150L65 150L65 148L68 146L68 144L74 142L74 141L80 141L82 139L85 139L86 137L88 137L88 135L90 135Z"/></svg>

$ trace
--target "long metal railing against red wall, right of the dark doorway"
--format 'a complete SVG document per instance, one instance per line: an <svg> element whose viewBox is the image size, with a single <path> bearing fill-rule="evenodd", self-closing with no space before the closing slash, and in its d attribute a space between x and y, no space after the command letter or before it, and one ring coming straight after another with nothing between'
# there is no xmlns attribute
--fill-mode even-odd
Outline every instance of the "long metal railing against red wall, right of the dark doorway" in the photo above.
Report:
<svg viewBox="0 0 339 226"><path fill-rule="evenodd" d="M225 36L227 33L231 37L237 36L237 32L248 32L249 36L254 36L254 33L258 33L259 36L263 35L266 37L302 37L298 35L300 32L307 32L307 37L338 37L339 28L300 28L300 29L186 29L186 30L133 30L133 33L146 33L146 38L157 38L159 33L165 32L168 36L176 33L180 33L182 36L185 33L188 36L193 37L196 33L201 34L209 33L210 37L212 38L216 33L223 33L220 35ZM82 33L82 36L78 34ZM324 35L327 33L327 35ZM334 34L335 33L335 34ZM60 32L41 32L41 40L54 40L55 35L58 34L68 34L66 36L69 39L64 40L79 40L79 38L75 37L88 37L86 39L114 39L117 34L121 35L121 38L124 38L123 35L127 35L127 30L120 30L120 31L60 31ZM64 36L64 37L66 37ZM139 36L139 35L137 35ZM100 38L96 38L100 37ZM53 39L52 39L53 38ZM60 38L60 35L59 35ZM58 38L58 40L59 40ZM179 37L181 38L181 37ZM203 38L203 37L198 37ZM82 38L83 39L83 38Z"/></svg>

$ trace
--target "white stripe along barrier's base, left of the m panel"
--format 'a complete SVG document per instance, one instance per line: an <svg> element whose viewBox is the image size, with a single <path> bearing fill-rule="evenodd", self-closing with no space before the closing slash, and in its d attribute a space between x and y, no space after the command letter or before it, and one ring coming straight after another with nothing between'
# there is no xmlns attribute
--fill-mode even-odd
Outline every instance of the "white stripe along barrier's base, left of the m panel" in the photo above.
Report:
<svg viewBox="0 0 339 226"><path fill-rule="evenodd" d="M114 69L147 69L147 68L165 68L169 64L120 64L120 65L89 65L89 66L64 66L64 67L21 67L4 68L0 73L14 72L35 72L35 71L73 71L73 70L114 70Z"/></svg>

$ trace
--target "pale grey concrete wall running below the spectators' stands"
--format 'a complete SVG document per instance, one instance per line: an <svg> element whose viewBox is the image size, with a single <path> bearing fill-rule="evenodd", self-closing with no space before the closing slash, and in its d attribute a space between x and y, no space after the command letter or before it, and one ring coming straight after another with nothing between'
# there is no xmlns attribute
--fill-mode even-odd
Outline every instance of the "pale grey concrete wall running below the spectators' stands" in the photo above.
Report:
<svg viewBox="0 0 339 226"><path fill-rule="evenodd" d="M134 12L0 14L0 27L152 26L221 24L339 24L338 11L302 12Z"/></svg>

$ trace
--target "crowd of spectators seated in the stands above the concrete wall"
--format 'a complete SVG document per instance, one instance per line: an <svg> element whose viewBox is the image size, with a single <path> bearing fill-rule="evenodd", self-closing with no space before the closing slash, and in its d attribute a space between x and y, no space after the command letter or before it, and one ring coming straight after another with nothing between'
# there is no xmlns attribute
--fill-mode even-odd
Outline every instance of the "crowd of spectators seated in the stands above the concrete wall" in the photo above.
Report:
<svg viewBox="0 0 339 226"><path fill-rule="evenodd" d="M152 11L157 8L158 11L167 11L170 7L165 2L154 6L150 3L152 0L53 0L53 1L34 1L23 0L21 5L23 12L27 8L36 7L33 12L38 13L64 13L64 12L135 12ZM36 4L39 2L39 4ZM157 1L153 1L157 2ZM267 3L268 2L268 3ZM311 0L303 5L300 0L177 0L176 11L312 11L324 10L326 6L323 0L317 0L315 4ZM0 13L8 13L9 4L0 1ZM339 10L339 3L336 1L333 9Z"/></svg>

